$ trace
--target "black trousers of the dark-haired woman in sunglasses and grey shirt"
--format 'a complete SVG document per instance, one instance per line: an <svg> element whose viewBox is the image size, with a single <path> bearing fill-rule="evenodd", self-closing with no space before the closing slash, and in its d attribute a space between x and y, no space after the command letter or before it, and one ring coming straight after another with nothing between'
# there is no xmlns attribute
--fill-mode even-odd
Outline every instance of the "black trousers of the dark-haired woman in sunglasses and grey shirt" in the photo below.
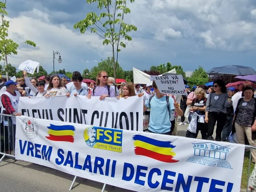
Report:
<svg viewBox="0 0 256 192"><path fill-rule="evenodd" d="M217 128L216 128L216 141L221 141L221 132L223 127L226 123L227 114L226 113L217 113L217 112L209 112L208 113L208 131L207 131L207 138L208 140L213 140L212 135L214 132L214 126L217 121Z"/></svg>

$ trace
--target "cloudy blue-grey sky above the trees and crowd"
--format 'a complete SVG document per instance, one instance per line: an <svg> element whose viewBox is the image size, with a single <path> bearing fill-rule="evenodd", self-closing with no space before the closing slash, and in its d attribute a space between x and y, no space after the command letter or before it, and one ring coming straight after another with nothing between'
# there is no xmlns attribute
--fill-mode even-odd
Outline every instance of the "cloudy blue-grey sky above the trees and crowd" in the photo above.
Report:
<svg viewBox="0 0 256 192"><path fill-rule="evenodd" d="M132 41L119 54L124 70L149 69L171 62L187 74L203 66L205 70L224 65L244 65L256 69L255 0L135 0L128 4L131 14L124 20L135 25ZM17 43L32 40L36 48L21 45L8 62L18 66L35 60L48 71L83 71L111 56L97 35L73 28L96 5L86 0L7 0L9 36Z"/></svg>

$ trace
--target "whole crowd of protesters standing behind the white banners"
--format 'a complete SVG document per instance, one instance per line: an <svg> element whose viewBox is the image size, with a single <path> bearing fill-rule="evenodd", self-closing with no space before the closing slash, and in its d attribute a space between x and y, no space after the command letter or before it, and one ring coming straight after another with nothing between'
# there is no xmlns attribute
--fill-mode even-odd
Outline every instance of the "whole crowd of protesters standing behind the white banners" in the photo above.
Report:
<svg viewBox="0 0 256 192"><path fill-rule="evenodd" d="M238 143L248 141L256 147L256 97L251 83L243 84L243 90L239 91L234 87L227 89L222 80L217 80L213 87L195 85L191 91L190 86L185 85L187 95L166 95L158 90L155 81L146 85L123 82L116 86L115 79L108 77L105 71L99 71L95 84L83 83L83 77L78 71L73 72L72 79L52 75L38 80L29 78L26 71L23 75L16 82L0 79L2 114L21 116L18 112L20 97L83 95L88 99L98 96L104 100L106 97L127 99L138 96L144 100L143 115L148 119L148 127L144 130L146 132L177 135L177 125L189 124L186 137L197 138L200 131L204 140L229 141L230 133L236 132ZM178 116L181 117L179 124ZM2 119L8 121L8 150L12 151L15 147L13 138L16 120L7 116ZM216 137L213 138L216 123ZM256 162L255 150L252 152L252 160Z"/></svg>

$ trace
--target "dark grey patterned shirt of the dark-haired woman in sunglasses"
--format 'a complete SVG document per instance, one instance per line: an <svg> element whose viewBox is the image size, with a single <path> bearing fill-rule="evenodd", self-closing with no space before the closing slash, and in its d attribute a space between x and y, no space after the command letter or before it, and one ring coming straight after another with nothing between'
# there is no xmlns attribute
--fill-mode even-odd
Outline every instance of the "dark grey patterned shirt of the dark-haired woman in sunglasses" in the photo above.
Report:
<svg viewBox="0 0 256 192"><path fill-rule="evenodd" d="M211 92L207 98L205 112L227 113L227 107L232 105L228 102L228 93L216 94Z"/></svg>

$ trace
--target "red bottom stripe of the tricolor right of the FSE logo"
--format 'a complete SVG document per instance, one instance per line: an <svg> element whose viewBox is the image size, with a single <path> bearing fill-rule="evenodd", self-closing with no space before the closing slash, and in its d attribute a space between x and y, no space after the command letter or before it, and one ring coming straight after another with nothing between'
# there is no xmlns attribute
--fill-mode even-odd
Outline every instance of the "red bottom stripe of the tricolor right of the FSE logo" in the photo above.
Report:
<svg viewBox="0 0 256 192"><path fill-rule="evenodd" d="M156 159L158 161L166 162L166 163L178 162L177 160L173 159L173 156L171 156L171 155L162 155L162 154L159 154L154 151L150 151L148 149L141 148L141 147L135 147L134 152L136 155L150 157L150 158Z"/></svg>

